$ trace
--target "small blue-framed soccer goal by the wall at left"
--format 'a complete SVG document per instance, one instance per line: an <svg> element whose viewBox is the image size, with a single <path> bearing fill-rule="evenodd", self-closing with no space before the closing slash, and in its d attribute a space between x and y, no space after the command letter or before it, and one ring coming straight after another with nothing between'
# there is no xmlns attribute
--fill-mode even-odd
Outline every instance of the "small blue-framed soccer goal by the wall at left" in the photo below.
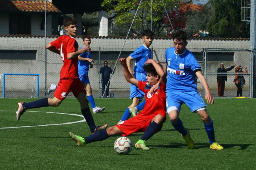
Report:
<svg viewBox="0 0 256 170"><path fill-rule="evenodd" d="M4 73L1 77L3 77L3 98L39 97L39 74Z"/></svg>

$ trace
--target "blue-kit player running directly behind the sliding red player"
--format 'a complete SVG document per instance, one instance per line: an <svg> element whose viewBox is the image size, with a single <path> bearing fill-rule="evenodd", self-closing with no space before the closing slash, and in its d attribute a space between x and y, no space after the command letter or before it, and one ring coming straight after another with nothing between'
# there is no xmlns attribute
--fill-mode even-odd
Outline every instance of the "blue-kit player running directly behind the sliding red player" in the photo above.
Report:
<svg viewBox="0 0 256 170"><path fill-rule="evenodd" d="M148 59L151 59L151 49L149 48L149 46L153 41L153 36L154 34L151 30L143 31L141 37L141 39L143 40L143 45L137 48L132 54L130 54L129 57L126 58L128 70L130 71L131 75L133 75L133 77L139 81L146 81L147 75L145 70L143 69L143 65ZM131 68L132 59L136 60L134 71L132 71ZM128 106L128 108L126 108L119 122L129 119L131 113L133 114L133 116L135 116L137 114L137 111L140 111L144 108L145 100L140 103L143 97L144 93L140 91L139 88L137 88L135 85L131 84L130 99L132 99L132 104ZM136 109L136 111L134 111L134 109Z"/></svg>

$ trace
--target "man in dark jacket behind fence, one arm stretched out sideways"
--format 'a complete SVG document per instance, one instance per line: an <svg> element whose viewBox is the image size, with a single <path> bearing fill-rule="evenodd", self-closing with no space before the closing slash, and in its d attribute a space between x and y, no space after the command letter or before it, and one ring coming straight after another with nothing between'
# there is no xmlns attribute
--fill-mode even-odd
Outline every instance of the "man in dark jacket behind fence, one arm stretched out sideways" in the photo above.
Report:
<svg viewBox="0 0 256 170"><path fill-rule="evenodd" d="M235 64L232 65L230 68L224 68L224 64L221 63L220 67L218 68L217 72L217 82L218 82L218 96L223 97L224 90L225 90L225 81L227 81L227 71L232 70L235 67Z"/></svg>

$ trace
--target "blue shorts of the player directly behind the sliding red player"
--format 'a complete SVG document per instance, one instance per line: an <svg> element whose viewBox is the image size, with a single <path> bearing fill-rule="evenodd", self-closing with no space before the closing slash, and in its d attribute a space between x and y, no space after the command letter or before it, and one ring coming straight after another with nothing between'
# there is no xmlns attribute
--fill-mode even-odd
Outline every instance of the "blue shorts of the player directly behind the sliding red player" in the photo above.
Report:
<svg viewBox="0 0 256 170"><path fill-rule="evenodd" d="M146 81L147 75L145 73L134 73L134 78L139 80L139 81ZM135 85L131 84L131 92L130 92L130 99L133 99L134 97L140 98L140 101L144 97L144 92L140 91L139 88L137 88Z"/></svg>

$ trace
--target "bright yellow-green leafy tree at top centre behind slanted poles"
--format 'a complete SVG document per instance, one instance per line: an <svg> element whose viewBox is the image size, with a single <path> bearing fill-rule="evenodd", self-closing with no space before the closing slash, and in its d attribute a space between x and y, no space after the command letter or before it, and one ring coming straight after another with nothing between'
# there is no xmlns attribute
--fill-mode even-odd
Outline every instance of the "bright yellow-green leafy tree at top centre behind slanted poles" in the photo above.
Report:
<svg viewBox="0 0 256 170"><path fill-rule="evenodd" d="M180 0L163 0L167 11L177 6ZM114 16L116 26L129 28L139 6L140 0L104 0L102 7L110 16ZM156 35L166 35L165 28L169 27L163 22L166 12L162 0L153 1L153 31ZM151 29L151 0L143 0L132 26L133 33L140 33Z"/></svg>

